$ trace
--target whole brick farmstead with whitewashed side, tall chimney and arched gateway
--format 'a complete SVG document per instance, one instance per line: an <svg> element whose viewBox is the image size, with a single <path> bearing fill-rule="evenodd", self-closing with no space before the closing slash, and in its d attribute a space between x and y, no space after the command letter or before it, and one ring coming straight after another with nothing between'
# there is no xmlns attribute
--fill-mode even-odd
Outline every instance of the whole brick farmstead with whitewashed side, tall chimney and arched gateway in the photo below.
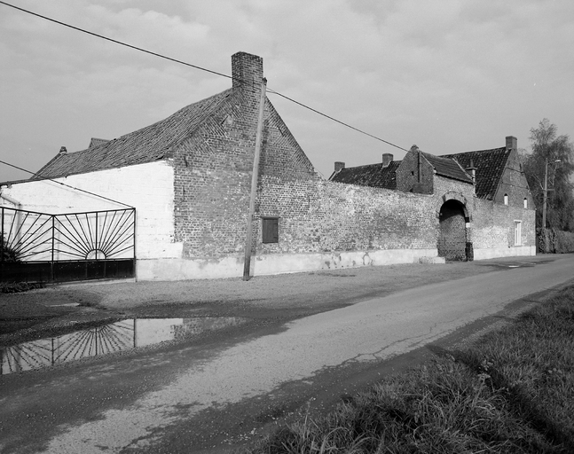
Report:
<svg viewBox="0 0 574 454"><path fill-rule="evenodd" d="M138 279L241 276L262 79L263 59L236 53L231 89L81 152L62 149L34 178L0 184L0 203L51 214L136 207ZM267 98L262 137L253 275L535 254L515 137L482 152L413 146L402 161L335 163L328 181Z"/></svg>

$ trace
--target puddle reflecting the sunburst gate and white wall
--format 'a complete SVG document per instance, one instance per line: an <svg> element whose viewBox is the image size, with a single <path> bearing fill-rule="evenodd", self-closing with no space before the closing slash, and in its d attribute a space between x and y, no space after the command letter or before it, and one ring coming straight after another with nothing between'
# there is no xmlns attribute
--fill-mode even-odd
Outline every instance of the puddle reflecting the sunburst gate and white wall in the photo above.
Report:
<svg viewBox="0 0 574 454"><path fill-rule="evenodd" d="M145 347L244 323L240 317L129 318L13 347L0 348L0 375Z"/></svg>

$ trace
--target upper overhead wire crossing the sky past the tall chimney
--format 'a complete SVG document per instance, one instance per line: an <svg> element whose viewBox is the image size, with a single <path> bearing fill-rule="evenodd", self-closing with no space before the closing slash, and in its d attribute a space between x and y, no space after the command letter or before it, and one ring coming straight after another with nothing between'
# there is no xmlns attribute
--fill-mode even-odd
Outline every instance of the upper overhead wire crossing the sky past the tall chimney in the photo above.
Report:
<svg viewBox="0 0 574 454"><path fill-rule="evenodd" d="M11 8L14 8L14 9L16 9L16 10L19 10L19 11L21 11L21 12L26 12L26 13L28 13L28 14L31 14L31 15L33 15L33 16L35 16L35 17L38 17L38 18L41 18L41 19L43 19L43 20L49 20L49 21L54 22L54 23L56 23L56 24L59 24L59 25L61 25L61 26L63 26L63 27L72 28L72 29L74 29L74 30L76 30L76 31L85 33L85 34L87 34L87 35L96 36L96 37L101 38L101 39L104 39L104 40L106 40L106 41L110 41L111 43L120 44L120 45L122 45L122 46L129 47L130 49L134 49L134 50L136 50L136 51L145 52L145 53L147 53L147 54L153 55L154 57L159 57L160 59L166 59L166 60L169 60L169 61L173 61L173 62L175 62L175 63L179 63L180 65L185 65L186 67L193 67L193 68L195 68L195 69L199 69L199 70L201 70L201 71L205 71L206 73L216 74L216 75L220 75L220 76L222 76L222 77L226 77L226 78L228 78L228 79L232 79L232 76L231 76L231 75L219 73L219 72L217 72L217 71L213 71L213 70L208 69L208 68L205 68L205 67L200 67L200 66L197 66L197 65L192 65L191 63L187 63L187 62L182 61L182 60L179 60L179 59L172 59L171 57L167 57L167 56L165 56L165 55L162 55L161 53L157 53L157 52L153 52L153 51L147 51L146 49L143 49L143 48L141 48L141 47L134 46L134 45L129 44L129 43L123 43L122 41L118 41L118 40L116 40L116 39L109 38L109 37L107 37L107 36L105 36L105 35L99 35L98 33L90 32L90 30L86 30L86 29L80 28L80 27L75 27L75 26L73 26L73 25L67 24L66 22L62 22L62 21L60 21L60 20L51 19L51 18L49 18L49 17L47 17L47 16L43 16L42 14L38 14L37 12L31 12L31 11L26 10L26 9L24 9L24 8L20 8L20 6L16 6L16 5L13 5L13 4L9 4L9 3L3 2L3 1L1 1L1 0L0 0L0 4L4 4L4 5L6 5L6 6L10 6ZM374 139L376 139L376 140L379 140L379 141L381 141L381 142L383 142L383 143L385 143L385 144L387 144L387 145L394 146L394 147L398 148L399 150L403 150L403 151L405 151L405 152L408 152L408 150L405 149L405 148L403 148L402 146L392 144L392 143L390 143L389 141L382 139L381 137L373 136L373 134L369 134L368 132L366 132L366 131L364 131L364 130L362 130L362 129L355 128L354 126L351 126L349 123L346 123L346 122L344 122L344 121L337 120L336 118L332 117L331 115L323 114L322 112L318 111L317 109L314 109L314 108L312 108L312 107L310 107L310 106L306 106L306 105L303 104L302 102L296 101L296 100L293 99L293 98L289 98L288 96L279 93L279 91L269 90L269 89L268 89L268 91L269 91L270 93L273 93L273 94L275 94L275 95L280 96L281 98L285 98L285 99L287 99L287 100L289 100L289 101L295 103L295 104L298 105L298 106L302 106L302 107L304 107L304 108L306 108L306 109L309 109L309 110L311 110L311 112L314 112L315 114L322 115L322 116L324 116L325 118L328 118L328 119L331 120L331 121L335 121L335 122L341 124L342 126L345 126L345 127L347 127L347 128L353 129L353 130L355 130L355 131L357 131L357 132L359 132L359 133L361 133L361 134L364 134L364 135L366 135L366 136L368 136L368 137L372 137L372 138L374 138Z"/></svg>

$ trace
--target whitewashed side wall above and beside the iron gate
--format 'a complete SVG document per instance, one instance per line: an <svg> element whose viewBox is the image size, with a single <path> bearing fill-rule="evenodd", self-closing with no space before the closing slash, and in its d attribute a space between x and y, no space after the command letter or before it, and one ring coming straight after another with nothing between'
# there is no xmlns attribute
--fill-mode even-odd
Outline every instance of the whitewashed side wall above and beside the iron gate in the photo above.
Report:
<svg viewBox="0 0 574 454"><path fill-rule="evenodd" d="M136 208L138 260L181 257L174 239L173 168L166 160L57 178L84 191L94 192ZM2 185L0 193L20 203L21 209L52 215L125 208L49 180ZM0 204L14 207L0 198Z"/></svg>

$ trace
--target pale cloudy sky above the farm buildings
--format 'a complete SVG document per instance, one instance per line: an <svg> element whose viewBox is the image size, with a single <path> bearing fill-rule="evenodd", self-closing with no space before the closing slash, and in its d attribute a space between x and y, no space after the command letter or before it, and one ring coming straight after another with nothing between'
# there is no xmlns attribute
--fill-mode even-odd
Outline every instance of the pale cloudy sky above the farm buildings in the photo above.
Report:
<svg viewBox="0 0 574 454"><path fill-rule="evenodd" d="M571 0L10 0L100 35L268 87L402 148L503 146L543 118L574 134ZM0 155L38 170L231 86L0 4ZM269 95L323 176L404 152ZM28 175L0 164L0 181Z"/></svg>

